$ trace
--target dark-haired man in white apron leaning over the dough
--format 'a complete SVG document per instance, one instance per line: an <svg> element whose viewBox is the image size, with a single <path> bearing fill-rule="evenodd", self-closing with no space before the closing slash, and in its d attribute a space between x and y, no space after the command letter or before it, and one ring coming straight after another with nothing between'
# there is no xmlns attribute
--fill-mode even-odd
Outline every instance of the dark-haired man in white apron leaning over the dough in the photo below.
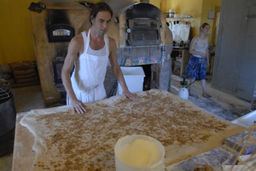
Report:
<svg viewBox="0 0 256 171"><path fill-rule="evenodd" d="M112 16L113 11L107 3L96 3L90 12L90 30L73 37L68 45L61 78L67 91L67 105L72 105L73 112L84 113L86 111L84 102L102 100L106 97L103 82L108 60L114 76L123 88L125 97L131 100L137 99L128 90L120 70L116 57L116 43L106 34ZM73 64L75 69L70 78Z"/></svg>

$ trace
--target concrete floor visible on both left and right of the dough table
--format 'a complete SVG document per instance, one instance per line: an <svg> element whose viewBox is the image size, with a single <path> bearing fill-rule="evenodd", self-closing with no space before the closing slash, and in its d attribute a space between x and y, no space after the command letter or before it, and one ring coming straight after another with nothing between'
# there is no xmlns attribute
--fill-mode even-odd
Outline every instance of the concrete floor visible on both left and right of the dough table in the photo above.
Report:
<svg viewBox="0 0 256 171"><path fill-rule="evenodd" d="M179 82L183 78L172 75L171 92L177 94L180 85ZM207 92L212 95L212 98L206 99L201 96L201 83L195 82L195 92L199 95L198 98L189 97L189 100L198 107L210 111L218 117L223 117L228 121L232 121L237 117L241 117L251 109L251 103L245 100L236 98L233 95L225 94L216 89L211 88L211 77L207 79ZM30 86L25 88L14 88L12 92L15 97L15 108L17 112L30 111L32 109L44 108L41 87ZM0 158L0 171L10 171L12 165L12 154Z"/></svg>

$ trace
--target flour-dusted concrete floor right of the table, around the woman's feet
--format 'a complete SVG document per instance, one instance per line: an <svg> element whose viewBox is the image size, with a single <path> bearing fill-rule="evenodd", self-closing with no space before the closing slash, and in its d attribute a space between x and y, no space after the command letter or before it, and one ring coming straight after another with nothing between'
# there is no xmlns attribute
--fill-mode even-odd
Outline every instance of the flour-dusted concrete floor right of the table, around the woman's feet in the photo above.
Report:
<svg viewBox="0 0 256 171"><path fill-rule="evenodd" d="M172 75L171 92L173 94L177 94L179 88L181 88L179 85L180 81L183 81L182 77ZM210 94L212 96L211 98L207 99L202 97L201 82L196 81L194 83L193 90L195 94L198 95L198 98L189 96L189 101L201 109L209 111L212 114L222 117L228 121L232 121L237 117L241 117L251 111L251 102L241 100L236 96L211 88L211 81L212 77L207 76L207 94Z"/></svg>

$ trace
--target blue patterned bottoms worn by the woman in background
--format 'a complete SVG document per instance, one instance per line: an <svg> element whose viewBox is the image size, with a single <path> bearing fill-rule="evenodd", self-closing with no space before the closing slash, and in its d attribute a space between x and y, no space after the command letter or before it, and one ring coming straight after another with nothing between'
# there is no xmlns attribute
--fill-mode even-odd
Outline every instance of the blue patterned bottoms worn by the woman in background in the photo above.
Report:
<svg viewBox="0 0 256 171"><path fill-rule="evenodd" d="M198 58L191 55L189 59L187 77L203 80L207 77L207 58Z"/></svg>

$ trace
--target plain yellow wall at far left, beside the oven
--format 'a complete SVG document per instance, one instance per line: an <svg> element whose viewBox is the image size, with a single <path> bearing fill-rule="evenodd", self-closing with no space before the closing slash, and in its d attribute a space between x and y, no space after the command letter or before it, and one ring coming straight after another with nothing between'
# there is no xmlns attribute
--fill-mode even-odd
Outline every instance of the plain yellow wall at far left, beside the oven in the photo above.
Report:
<svg viewBox="0 0 256 171"><path fill-rule="evenodd" d="M31 0L0 1L0 64L36 60L32 36Z"/></svg>

